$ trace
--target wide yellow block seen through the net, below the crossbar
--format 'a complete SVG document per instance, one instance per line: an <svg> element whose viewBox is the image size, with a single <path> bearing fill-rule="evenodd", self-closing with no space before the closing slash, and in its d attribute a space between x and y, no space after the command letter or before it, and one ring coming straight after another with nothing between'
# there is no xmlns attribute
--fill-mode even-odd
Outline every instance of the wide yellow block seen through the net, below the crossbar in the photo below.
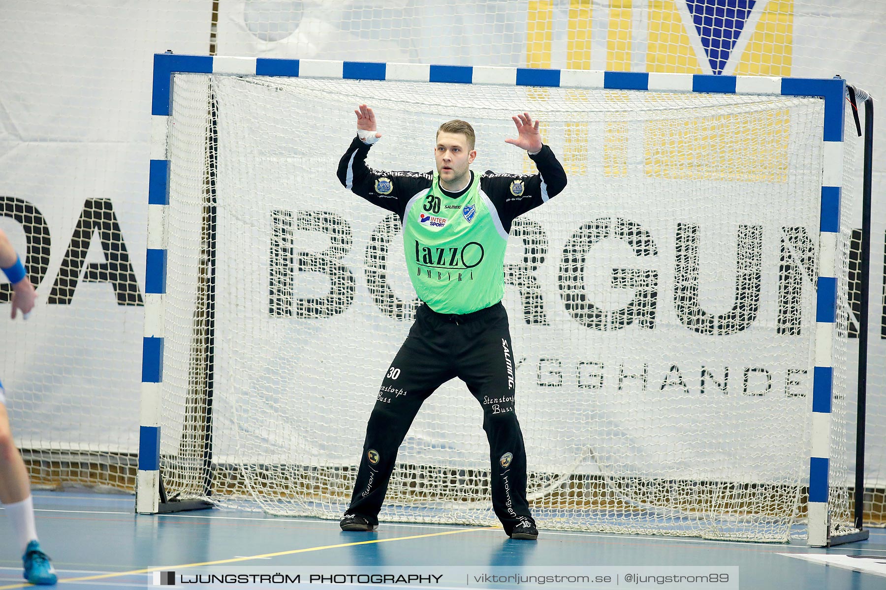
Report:
<svg viewBox="0 0 886 590"><path fill-rule="evenodd" d="M671 180L787 182L788 111L649 121L647 176Z"/></svg>

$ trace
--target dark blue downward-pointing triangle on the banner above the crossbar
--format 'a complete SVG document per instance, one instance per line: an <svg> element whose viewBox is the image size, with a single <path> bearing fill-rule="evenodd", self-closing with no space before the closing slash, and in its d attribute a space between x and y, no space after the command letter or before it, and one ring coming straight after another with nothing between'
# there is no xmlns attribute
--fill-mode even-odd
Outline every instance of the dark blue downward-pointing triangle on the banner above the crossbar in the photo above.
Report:
<svg viewBox="0 0 886 590"><path fill-rule="evenodd" d="M713 73L723 73L757 0L686 0Z"/></svg>

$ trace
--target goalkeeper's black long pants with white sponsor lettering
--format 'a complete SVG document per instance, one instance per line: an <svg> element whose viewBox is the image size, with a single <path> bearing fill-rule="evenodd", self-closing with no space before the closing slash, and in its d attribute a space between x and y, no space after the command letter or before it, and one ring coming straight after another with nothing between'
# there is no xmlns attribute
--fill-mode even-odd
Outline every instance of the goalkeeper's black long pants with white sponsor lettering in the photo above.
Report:
<svg viewBox="0 0 886 590"><path fill-rule="evenodd" d="M397 449L422 402L458 377L483 408L489 440L493 509L505 533L526 519L526 452L514 411L517 366L501 303L470 314L440 314L422 305L382 381L366 428L354 496L347 509L378 524Z"/></svg>

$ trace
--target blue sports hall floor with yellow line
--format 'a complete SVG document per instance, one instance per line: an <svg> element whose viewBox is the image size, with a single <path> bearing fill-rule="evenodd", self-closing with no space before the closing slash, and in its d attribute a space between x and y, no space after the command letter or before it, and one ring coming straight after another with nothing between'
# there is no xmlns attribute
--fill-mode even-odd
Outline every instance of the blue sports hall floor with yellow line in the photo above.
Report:
<svg viewBox="0 0 886 590"><path fill-rule="evenodd" d="M545 530L539 540L525 541L510 540L501 529L476 526L382 523L376 532L342 533L334 521L242 510L144 516L134 513L131 495L37 491L34 497L37 530L58 571L58 586L80 590L155 586L162 581L155 571L178 572L178 586L183 581L212 582L187 583L191 587L886 588L882 529L872 529L869 540L827 549L807 548L802 541L723 542ZM632 571L633 584L626 580ZM707 571L731 577L711 583L699 577ZM187 578L187 572L218 575ZM422 576L433 580L434 572L442 577L425 583ZM540 578L518 584L513 581L517 578L484 578L483 572L561 575L563 585L540 583ZM271 573L279 575L271 580ZM311 573L329 582L319 578L308 585ZM245 584L242 574L251 574L246 580L254 585ZM413 581L407 574L415 576ZM268 576L268 583L261 575ZM298 584L293 581L297 575ZM664 581L665 576L676 581ZM591 581L573 581L577 579ZM367 580L369 585L361 586ZM0 590L27 586L21 579L19 550L0 510Z"/></svg>

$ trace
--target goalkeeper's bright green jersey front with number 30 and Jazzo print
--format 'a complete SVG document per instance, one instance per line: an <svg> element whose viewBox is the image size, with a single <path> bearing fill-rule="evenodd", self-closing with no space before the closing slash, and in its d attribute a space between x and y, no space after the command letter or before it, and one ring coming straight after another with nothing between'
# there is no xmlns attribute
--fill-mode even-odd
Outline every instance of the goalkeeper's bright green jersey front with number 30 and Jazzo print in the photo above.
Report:
<svg viewBox="0 0 886 590"><path fill-rule="evenodd" d="M453 199L434 173L426 193L412 197L403 214L403 249L419 298L439 313L470 313L504 296L508 234L474 174Z"/></svg>

